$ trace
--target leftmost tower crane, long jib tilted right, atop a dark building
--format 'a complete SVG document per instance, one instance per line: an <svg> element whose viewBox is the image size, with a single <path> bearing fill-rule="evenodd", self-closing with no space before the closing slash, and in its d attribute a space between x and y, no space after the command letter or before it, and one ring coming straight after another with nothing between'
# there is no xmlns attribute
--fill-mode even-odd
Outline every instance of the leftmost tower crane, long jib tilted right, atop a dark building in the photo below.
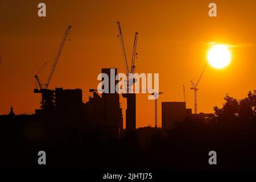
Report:
<svg viewBox="0 0 256 182"><path fill-rule="evenodd" d="M51 71L50 71L50 73L49 73L49 76L48 76L48 78L47 78L46 84L41 84L41 82L40 82L40 80L39 80L39 77L38 77L38 73L42 70L42 68L46 65L46 63L45 63L45 64L43 65L43 67L39 70L39 72L36 73L35 78L36 78L36 81L38 82L38 86L39 86L39 89L40 89L40 90L43 89L43 86L44 86L44 89L47 89L47 88L48 88L49 82L51 81L52 75L53 75L53 73L54 73L54 71L55 71L55 68L56 68L56 65L57 65L57 63L58 63L58 61L59 61L59 58L60 58L60 55L61 55L61 51L62 51L63 46L64 46L64 44L65 44L65 40L67 39L67 36L68 36L68 34L69 34L71 28L72 28L72 26L71 26L71 25L68 25L68 28L65 30L63 39L61 40L59 50L58 50L57 55L56 55L56 57L55 57L55 60L54 60L54 63L53 63L53 65L52 65L52 68L51 68Z"/></svg>

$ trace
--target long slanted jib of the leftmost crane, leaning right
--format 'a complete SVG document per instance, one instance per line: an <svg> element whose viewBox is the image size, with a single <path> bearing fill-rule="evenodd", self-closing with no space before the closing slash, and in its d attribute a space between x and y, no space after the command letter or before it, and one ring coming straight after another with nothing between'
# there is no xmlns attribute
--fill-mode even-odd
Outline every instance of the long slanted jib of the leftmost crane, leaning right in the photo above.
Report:
<svg viewBox="0 0 256 182"><path fill-rule="evenodd" d="M46 81L46 89L48 88L49 82L51 81L53 72L55 71L56 65L57 65L58 60L59 60L60 55L61 55L61 51L62 51L63 46L64 46L64 44L65 44L65 40L67 39L67 36L68 36L69 31L71 30L71 28L72 28L72 26L69 25L68 28L67 28L67 30L65 31L65 34L64 34L64 36L63 36L63 39L61 40L60 47L59 47L59 51L57 52L57 55L56 55L56 57L55 57L54 63L53 63L52 68L51 68L51 72L49 73L49 76L48 76L47 81Z"/></svg>

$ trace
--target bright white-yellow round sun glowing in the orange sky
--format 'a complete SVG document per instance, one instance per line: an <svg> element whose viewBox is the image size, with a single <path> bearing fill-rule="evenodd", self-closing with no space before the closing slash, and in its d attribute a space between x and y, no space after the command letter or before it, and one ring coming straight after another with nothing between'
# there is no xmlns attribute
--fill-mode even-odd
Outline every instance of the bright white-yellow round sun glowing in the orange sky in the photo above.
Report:
<svg viewBox="0 0 256 182"><path fill-rule="evenodd" d="M207 58L212 67L224 68L230 63L231 53L228 46L217 44L210 48Z"/></svg>

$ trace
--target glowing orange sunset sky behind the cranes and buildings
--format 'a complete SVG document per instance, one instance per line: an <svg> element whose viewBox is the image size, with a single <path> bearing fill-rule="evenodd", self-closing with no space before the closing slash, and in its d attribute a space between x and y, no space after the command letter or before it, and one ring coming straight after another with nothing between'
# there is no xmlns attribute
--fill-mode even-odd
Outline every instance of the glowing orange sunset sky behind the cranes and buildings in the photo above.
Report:
<svg viewBox="0 0 256 182"><path fill-rule="evenodd" d="M38 17L38 3L47 7ZM208 16L210 2L217 17ZM72 24L49 88L81 88L84 102L96 88L101 68L125 73L116 22L121 22L127 59L138 31L135 60L137 73L159 73L158 119L162 101L183 101L193 109L190 81L196 81L207 63L209 42L229 44L230 64L223 69L208 66L199 84L198 111L213 112L229 93L245 97L256 89L256 1L0 1L0 114L11 105L16 114L32 114L40 107L34 94L34 75L42 82L51 69L65 28ZM154 101L137 94L137 127L154 126ZM126 101L121 98L123 109ZM125 111L123 110L125 120Z"/></svg>

